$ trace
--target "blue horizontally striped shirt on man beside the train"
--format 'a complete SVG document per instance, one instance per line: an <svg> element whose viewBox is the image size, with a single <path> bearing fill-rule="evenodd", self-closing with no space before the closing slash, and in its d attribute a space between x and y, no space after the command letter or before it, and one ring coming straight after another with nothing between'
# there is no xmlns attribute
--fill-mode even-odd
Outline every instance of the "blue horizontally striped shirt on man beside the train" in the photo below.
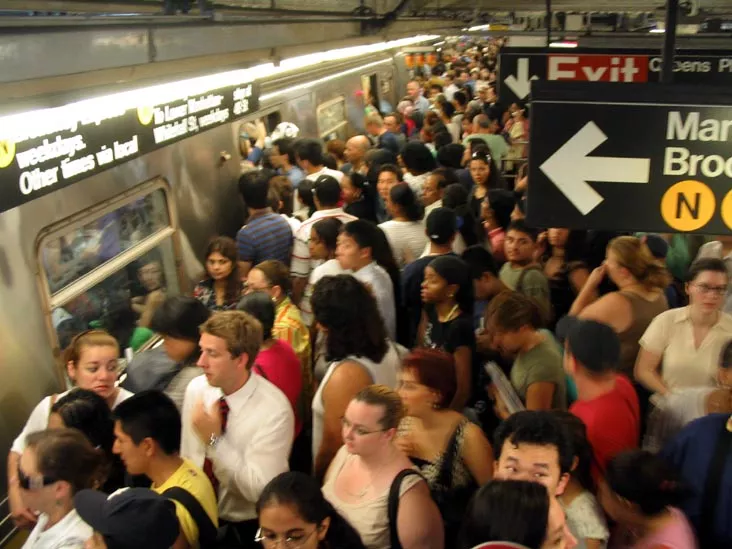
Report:
<svg viewBox="0 0 732 549"><path fill-rule="evenodd" d="M239 261L255 266L267 259L277 259L290 264L292 253L292 229L280 214L271 210L249 218L236 235Z"/></svg>

